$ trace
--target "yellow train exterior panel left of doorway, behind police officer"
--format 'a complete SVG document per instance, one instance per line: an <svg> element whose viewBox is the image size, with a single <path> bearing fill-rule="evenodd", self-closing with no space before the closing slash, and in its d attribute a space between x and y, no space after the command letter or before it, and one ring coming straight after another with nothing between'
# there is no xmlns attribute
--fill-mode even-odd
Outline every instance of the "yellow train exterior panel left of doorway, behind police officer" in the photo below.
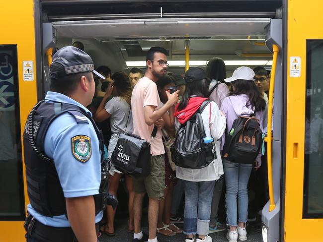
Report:
<svg viewBox="0 0 323 242"><path fill-rule="evenodd" d="M19 116L16 119L20 128L20 140L22 140L22 133L24 124L28 113L33 105L37 102L36 93L36 56L35 56L35 21L34 21L34 1L33 0L16 0L16 1L1 1L1 38L0 47L12 46L16 48L16 55L13 56L17 61L17 79L18 79L18 99L19 102ZM30 61L30 62L25 62ZM32 66L32 75L30 74L30 67ZM28 69L28 70L27 70ZM25 72L27 71L27 74ZM28 77L29 76L29 77ZM17 98L17 97L16 97ZM22 145L22 144L21 144ZM23 150L23 149L22 149ZM22 156L23 157L23 156ZM21 167L25 171L23 160L20 160ZM1 171L5 173L6 171ZM24 199L23 212L18 217L11 218L10 215L6 218L0 217L0 241L2 242L18 242L24 241L23 221L26 213L26 204L28 204L28 196L25 184L25 173L19 171L19 180L23 183L23 191L21 192ZM22 175L23 174L23 175ZM6 185L6 184L1 184ZM3 195L3 194L1 194Z"/></svg>

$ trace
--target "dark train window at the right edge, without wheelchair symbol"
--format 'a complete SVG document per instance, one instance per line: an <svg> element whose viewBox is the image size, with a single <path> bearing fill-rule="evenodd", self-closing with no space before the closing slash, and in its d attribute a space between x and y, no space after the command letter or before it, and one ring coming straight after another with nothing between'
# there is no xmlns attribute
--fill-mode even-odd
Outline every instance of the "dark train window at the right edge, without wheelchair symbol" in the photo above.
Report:
<svg viewBox="0 0 323 242"><path fill-rule="evenodd" d="M304 218L323 218L323 40L307 40Z"/></svg>

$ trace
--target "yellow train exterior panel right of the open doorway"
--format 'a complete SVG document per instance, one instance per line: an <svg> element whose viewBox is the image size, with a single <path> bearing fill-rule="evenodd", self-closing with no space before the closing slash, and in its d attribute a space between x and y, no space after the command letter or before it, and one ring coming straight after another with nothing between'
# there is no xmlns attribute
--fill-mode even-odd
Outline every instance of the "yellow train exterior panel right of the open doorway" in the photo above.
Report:
<svg viewBox="0 0 323 242"><path fill-rule="evenodd" d="M311 69L307 68L311 60L307 60L307 52L311 39L323 43L323 31L318 25L322 23L322 9L323 2L319 0L288 0L285 242L323 241L320 230L323 216L311 216L305 211L306 187L310 184L304 176L308 166L305 165L306 100L319 92L306 87L311 81L308 78Z"/></svg>

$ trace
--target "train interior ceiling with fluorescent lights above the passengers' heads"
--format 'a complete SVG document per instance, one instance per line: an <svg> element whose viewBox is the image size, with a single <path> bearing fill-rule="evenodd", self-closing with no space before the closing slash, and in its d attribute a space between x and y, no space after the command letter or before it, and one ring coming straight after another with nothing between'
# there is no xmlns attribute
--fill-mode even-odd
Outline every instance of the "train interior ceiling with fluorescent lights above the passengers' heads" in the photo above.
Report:
<svg viewBox="0 0 323 242"><path fill-rule="evenodd" d="M114 72L127 71L133 66L145 68L147 51L161 46L169 52L169 71L183 73L185 44L188 43L190 66L204 67L212 57L219 57L225 60L230 75L240 65L261 65L270 69L272 57L264 45L264 26L268 23L269 19L253 24L165 24L147 29L143 28L147 25L59 27L57 47L81 41L95 66L108 65ZM169 33L170 28L172 33ZM120 36L120 32L124 35Z"/></svg>

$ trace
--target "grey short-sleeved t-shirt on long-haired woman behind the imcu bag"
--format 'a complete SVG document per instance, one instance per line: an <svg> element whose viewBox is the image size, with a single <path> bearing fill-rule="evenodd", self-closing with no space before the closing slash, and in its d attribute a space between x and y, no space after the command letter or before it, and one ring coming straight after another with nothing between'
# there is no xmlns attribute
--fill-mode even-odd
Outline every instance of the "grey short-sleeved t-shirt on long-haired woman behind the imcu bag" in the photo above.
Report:
<svg viewBox="0 0 323 242"><path fill-rule="evenodd" d="M106 112L111 114L110 126L112 133L123 133L126 127L127 133L132 133L134 131L132 112L129 112L130 105L126 102L126 100L121 97L112 98L106 103L104 108Z"/></svg>

